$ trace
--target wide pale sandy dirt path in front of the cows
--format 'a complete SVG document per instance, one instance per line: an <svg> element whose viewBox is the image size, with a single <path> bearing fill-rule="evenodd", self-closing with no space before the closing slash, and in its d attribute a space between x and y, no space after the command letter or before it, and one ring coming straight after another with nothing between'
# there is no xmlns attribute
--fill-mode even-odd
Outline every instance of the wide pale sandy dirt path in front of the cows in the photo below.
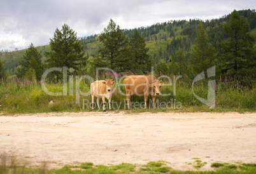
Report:
<svg viewBox="0 0 256 174"><path fill-rule="evenodd" d="M0 116L0 154L30 166L146 164L176 170L211 163L256 163L256 114L82 112Z"/></svg>

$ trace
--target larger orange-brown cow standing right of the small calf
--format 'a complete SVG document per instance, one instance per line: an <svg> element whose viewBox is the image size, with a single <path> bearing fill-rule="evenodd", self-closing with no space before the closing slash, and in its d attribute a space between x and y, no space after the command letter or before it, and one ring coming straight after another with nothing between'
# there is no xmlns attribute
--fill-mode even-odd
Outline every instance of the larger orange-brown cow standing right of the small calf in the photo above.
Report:
<svg viewBox="0 0 256 174"><path fill-rule="evenodd" d="M131 95L144 95L145 108L148 101L148 95L152 96L153 107L155 107L155 96L160 95L160 87L164 83L157 80L155 76L128 76L124 79L124 87L126 91L127 107L130 109Z"/></svg>

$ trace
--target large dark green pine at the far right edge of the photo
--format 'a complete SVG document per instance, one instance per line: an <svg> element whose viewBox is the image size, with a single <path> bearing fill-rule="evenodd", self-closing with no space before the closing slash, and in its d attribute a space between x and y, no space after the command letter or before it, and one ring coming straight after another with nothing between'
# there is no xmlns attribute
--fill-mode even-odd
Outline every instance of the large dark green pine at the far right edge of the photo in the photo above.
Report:
<svg viewBox="0 0 256 174"><path fill-rule="evenodd" d="M250 25L246 18L234 10L229 23L224 23L223 30L229 38L222 41L218 58L222 72L243 75L256 71L255 37L250 34Z"/></svg>

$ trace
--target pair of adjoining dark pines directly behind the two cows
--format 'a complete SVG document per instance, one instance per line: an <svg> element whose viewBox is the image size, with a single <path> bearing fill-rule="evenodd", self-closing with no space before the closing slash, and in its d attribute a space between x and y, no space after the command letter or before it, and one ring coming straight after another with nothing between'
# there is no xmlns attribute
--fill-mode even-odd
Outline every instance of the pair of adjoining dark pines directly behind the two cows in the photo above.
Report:
<svg viewBox="0 0 256 174"><path fill-rule="evenodd" d="M138 30L134 30L131 38L122 32L119 25L110 20L108 27L99 34L101 46L90 62L92 69L108 67L116 72L127 70L146 73L152 62L149 59L145 39Z"/></svg>

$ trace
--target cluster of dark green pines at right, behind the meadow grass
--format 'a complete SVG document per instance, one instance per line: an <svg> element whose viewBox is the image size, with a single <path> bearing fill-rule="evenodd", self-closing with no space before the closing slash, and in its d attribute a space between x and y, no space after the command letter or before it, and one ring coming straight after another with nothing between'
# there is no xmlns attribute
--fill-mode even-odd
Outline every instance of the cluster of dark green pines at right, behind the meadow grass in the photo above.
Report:
<svg viewBox="0 0 256 174"><path fill-rule="evenodd" d="M169 60L169 64L164 64L168 59L159 62L156 66L157 71L165 69L173 74L195 77L196 74L206 72L208 68L215 65L218 76L255 77L256 38L255 34L250 32L250 23L247 18L240 16L238 11L234 10L229 21L222 25L222 31L218 34L222 34L225 39L217 40L215 47L210 42L203 22L199 21L196 41L191 49L189 49L188 37L173 39L170 44L167 44L167 51L177 51L173 51L175 55L171 56L173 59ZM182 47L181 44L183 44ZM186 51L187 48L190 51Z"/></svg>

